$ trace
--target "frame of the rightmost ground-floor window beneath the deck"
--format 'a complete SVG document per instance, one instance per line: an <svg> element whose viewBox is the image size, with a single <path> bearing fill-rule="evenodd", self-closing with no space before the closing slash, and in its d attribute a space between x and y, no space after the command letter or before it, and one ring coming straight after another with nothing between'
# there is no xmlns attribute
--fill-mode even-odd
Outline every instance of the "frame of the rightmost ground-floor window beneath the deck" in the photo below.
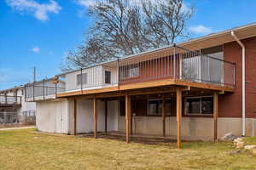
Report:
<svg viewBox="0 0 256 170"><path fill-rule="evenodd" d="M188 113L186 103L187 99L199 99L200 98L200 113ZM212 98L212 113L202 113L202 98ZM213 115L213 96L207 95L207 96L194 96L194 97L185 97L184 98L184 115L186 116L212 116Z"/></svg>

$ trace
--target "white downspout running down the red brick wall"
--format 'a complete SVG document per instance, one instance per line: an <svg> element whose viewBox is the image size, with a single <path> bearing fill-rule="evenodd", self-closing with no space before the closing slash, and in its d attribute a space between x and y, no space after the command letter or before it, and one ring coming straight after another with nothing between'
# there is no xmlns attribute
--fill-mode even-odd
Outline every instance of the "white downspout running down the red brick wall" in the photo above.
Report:
<svg viewBox="0 0 256 170"><path fill-rule="evenodd" d="M243 43L236 37L234 31L231 31L231 36L234 37L236 42L241 46L242 54L241 54L241 64L242 64L242 94L241 94L241 105L242 105L242 136L246 135L246 49Z"/></svg>

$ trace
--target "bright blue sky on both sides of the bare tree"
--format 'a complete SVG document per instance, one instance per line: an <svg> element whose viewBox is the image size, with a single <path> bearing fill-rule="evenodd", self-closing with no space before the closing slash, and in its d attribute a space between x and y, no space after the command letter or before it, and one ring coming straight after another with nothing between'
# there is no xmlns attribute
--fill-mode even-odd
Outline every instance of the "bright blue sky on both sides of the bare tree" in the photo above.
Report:
<svg viewBox="0 0 256 170"><path fill-rule="evenodd" d="M60 73L65 53L83 41L92 0L0 0L0 89ZM193 37L256 21L255 0L187 0Z"/></svg>

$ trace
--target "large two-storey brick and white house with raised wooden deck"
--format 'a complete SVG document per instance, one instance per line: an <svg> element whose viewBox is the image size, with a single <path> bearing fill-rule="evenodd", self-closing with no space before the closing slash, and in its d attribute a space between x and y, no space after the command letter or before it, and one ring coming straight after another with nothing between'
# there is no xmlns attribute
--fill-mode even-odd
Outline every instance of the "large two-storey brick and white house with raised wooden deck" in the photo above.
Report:
<svg viewBox="0 0 256 170"><path fill-rule="evenodd" d="M42 82L26 94L44 132L164 136L178 147L255 136L255 44L254 23L57 75L51 99L35 99Z"/></svg>

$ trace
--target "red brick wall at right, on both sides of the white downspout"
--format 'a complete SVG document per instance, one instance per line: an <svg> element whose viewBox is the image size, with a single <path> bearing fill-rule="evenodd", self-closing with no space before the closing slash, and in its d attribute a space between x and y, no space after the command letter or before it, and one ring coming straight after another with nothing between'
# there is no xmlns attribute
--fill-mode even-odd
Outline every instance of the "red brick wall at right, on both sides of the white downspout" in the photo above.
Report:
<svg viewBox="0 0 256 170"><path fill-rule="evenodd" d="M242 40L246 46L246 115L256 113L256 37ZM241 47L237 42L224 44L224 59L236 63L236 88L234 94L219 95L220 117L241 117Z"/></svg>

